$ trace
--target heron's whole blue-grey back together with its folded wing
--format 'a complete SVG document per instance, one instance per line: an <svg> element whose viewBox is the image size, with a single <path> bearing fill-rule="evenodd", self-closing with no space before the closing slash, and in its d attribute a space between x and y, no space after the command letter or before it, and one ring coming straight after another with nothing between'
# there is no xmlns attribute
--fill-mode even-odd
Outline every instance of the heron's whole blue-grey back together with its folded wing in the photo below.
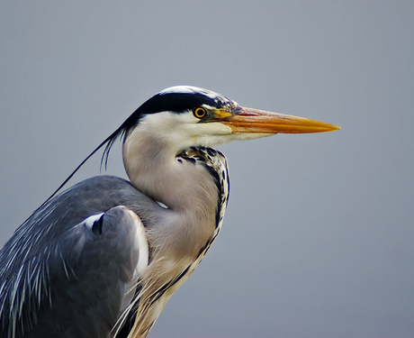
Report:
<svg viewBox="0 0 414 338"><path fill-rule="evenodd" d="M112 177L90 178L50 200L0 251L3 336L107 337L148 264L137 214L163 210Z"/></svg>

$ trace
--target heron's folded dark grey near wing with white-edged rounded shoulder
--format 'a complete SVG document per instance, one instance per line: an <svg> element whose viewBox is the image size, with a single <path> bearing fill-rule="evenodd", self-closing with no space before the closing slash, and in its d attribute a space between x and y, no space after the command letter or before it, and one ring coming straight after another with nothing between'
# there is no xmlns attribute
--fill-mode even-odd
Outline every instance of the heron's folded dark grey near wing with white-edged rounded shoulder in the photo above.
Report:
<svg viewBox="0 0 414 338"><path fill-rule="evenodd" d="M62 233L36 257L46 272L37 277L33 291L46 296L46 302L25 336L107 337L138 276L142 251L148 264L146 237L146 248L136 241L137 235L145 236L141 227L130 209L116 206Z"/></svg>

